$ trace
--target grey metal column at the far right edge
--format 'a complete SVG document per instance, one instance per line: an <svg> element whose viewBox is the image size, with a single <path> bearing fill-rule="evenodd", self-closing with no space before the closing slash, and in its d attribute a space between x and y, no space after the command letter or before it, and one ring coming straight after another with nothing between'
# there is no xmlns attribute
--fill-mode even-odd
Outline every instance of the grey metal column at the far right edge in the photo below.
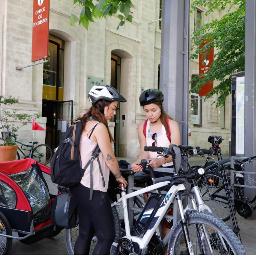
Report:
<svg viewBox="0 0 256 256"><path fill-rule="evenodd" d="M256 155L256 0L246 0L245 22L245 106L244 106L244 153L246 157ZM255 172L256 162L245 165L246 172ZM253 177L254 178L254 177ZM248 180L248 175L244 181ZM251 200L256 191L244 188L245 196ZM255 213L254 213L255 217Z"/></svg>

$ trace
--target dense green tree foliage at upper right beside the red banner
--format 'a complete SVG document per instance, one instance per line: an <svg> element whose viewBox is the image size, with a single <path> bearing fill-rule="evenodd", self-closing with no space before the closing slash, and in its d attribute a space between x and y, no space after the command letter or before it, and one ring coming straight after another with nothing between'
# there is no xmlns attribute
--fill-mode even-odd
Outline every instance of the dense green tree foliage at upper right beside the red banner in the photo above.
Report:
<svg viewBox="0 0 256 256"><path fill-rule="evenodd" d="M205 15L215 9L227 10L227 13L220 20L212 20L204 24L200 29L195 30L191 38L190 59L197 59L199 52L206 58L208 49L214 47L214 62L204 78L193 78L190 82L196 81L196 86L190 92L198 92L202 85L211 80L220 81L217 86L207 94L210 98L218 95L216 106L224 104L226 96L231 93L231 74L244 70L245 50L245 0L195 0L191 9L196 6L207 7ZM236 6L235 11L231 10ZM199 49L202 41L208 43Z"/></svg>

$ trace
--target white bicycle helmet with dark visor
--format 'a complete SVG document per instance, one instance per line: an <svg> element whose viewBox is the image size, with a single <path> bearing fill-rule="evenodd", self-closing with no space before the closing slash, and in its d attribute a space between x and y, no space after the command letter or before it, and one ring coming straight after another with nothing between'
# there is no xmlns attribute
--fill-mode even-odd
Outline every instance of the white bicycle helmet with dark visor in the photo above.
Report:
<svg viewBox="0 0 256 256"><path fill-rule="evenodd" d="M104 115L104 106L106 101L126 102L126 99L116 90L109 85L94 85L88 94L92 106L95 105L100 112ZM102 101L102 108L97 104L99 100Z"/></svg>

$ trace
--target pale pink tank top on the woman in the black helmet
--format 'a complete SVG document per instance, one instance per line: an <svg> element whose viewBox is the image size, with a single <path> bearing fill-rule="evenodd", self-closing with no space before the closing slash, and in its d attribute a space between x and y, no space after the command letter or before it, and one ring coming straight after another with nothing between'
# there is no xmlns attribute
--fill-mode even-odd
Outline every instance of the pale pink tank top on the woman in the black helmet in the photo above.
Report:
<svg viewBox="0 0 256 256"><path fill-rule="evenodd" d="M152 135L150 134L149 130L150 130L150 120L148 120L148 122L147 122L146 144L147 144L147 146L152 146L152 143L154 142L154 140L152 139ZM162 124L162 131L157 134L156 143L157 143L158 147L165 147L165 148L168 148L171 144L171 142L169 141L169 139L167 137L166 130L165 130L163 124ZM149 159L156 158L157 155L158 155L157 152L149 152L148 158ZM159 157L162 157L162 156L159 156ZM166 167L166 166L170 166L170 165L173 165L173 162L163 164L162 166Z"/></svg>

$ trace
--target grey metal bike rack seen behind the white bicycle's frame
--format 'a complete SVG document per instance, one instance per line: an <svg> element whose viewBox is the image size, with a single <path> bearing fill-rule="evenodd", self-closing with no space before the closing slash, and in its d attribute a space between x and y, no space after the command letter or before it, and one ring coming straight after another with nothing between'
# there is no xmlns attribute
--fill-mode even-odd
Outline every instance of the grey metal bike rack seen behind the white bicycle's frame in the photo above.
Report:
<svg viewBox="0 0 256 256"><path fill-rule="evenodd" d="M128 165L128 169L131 168L131 165ZM154 168L155 172L166 172L166 173L174 173L175 169L172 168ZM134 186L134 175L129 175L128 176L128 186L127 186L127 192L131 193L135 190L140 190L140 187L136 187ZM150 191L151 193L157 193L155 190ZM163 192L163 193L167 193L167 192ZM129 223L130 223L130 230L132 230L133 227L133 212L134 210L141 212L142 210L140 210L139 208L133 207L133 198L129 198L128 202L127 202L127 209L128 209L128 217L129 217ZM176 200L174 200L174 204L173 204L173 216L166 214L166 217L173 219L173 225L175 225L179 219L179 214L178 214L178 207L177 207L177 202Z"/></svg>

